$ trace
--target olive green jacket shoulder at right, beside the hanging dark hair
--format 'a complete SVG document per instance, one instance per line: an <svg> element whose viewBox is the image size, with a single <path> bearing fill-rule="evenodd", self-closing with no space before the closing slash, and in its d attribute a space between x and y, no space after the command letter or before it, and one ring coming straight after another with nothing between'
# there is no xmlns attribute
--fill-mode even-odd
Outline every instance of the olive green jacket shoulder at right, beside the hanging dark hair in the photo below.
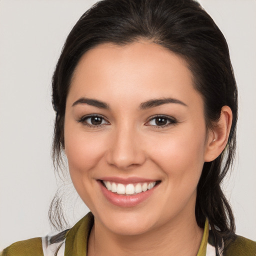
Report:
<svg viewBox="0 0 256 256"><path fill-rule="evenodd" d="M256 256L256 242L240 235L235 235L223 250L224 256Z"/></svg>

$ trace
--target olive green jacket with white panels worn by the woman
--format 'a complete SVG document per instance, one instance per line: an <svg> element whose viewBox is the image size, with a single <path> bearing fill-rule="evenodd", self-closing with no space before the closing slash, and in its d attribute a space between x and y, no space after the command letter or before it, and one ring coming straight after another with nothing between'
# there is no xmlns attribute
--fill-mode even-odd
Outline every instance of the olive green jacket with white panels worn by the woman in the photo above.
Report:
<svg viewBox="0 0 256 256"><path fill-rule="evenodd" d="M86 256L93 222L93 215L89 212L70 229L14 242L0 252L0 256ZM256 256L256 242L235 235L233 241L226 246L210 230L206 220L196 256Z"/></svg>

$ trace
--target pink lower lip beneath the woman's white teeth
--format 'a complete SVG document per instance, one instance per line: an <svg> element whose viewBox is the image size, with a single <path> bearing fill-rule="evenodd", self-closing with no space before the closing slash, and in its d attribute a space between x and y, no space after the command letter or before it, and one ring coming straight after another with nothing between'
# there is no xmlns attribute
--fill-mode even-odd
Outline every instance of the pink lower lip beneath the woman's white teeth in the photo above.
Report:
<svg viewBox="0 0 256 256"><path fill-rule="evenodd" d="M138 205L139 203L145 201L153 193L155 187L157 186L155 185L153 188L146 190L145 192L140 192L134 195L123 195L107 190L101 181L98 181L98 183L105 198L112 204L120 207L132 207Z"/></svg>

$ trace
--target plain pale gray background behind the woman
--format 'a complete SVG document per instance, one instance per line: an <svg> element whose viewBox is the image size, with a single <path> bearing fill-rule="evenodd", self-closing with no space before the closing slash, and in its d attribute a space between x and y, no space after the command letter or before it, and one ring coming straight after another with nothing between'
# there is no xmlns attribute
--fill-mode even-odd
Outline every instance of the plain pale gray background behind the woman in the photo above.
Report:
<svg viewBox="0 0 256 256"><path fill-rule="evenodd" d="M50 79L66 35L94 2L0 1L0 249L51 231L47 210L57 183ZM223 187L237 233L256 240L256 1L200 2L227 39L239 90L238 154ZM69 181L61 189L72 225L87 208Z"/></svg>

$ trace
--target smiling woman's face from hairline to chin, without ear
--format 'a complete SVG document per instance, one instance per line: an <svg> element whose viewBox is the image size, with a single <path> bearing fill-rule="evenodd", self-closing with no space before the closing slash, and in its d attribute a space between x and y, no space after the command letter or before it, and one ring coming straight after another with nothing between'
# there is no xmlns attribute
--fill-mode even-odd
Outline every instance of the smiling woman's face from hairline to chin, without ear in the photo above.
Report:
<svg viewBox="0 0 256 256"><path fill-rule="evenodd" d="M67 96L64 141L95 223L141 234L194 219L207 135L202 97L181 57L146 41L88 50Z"/></svg>

